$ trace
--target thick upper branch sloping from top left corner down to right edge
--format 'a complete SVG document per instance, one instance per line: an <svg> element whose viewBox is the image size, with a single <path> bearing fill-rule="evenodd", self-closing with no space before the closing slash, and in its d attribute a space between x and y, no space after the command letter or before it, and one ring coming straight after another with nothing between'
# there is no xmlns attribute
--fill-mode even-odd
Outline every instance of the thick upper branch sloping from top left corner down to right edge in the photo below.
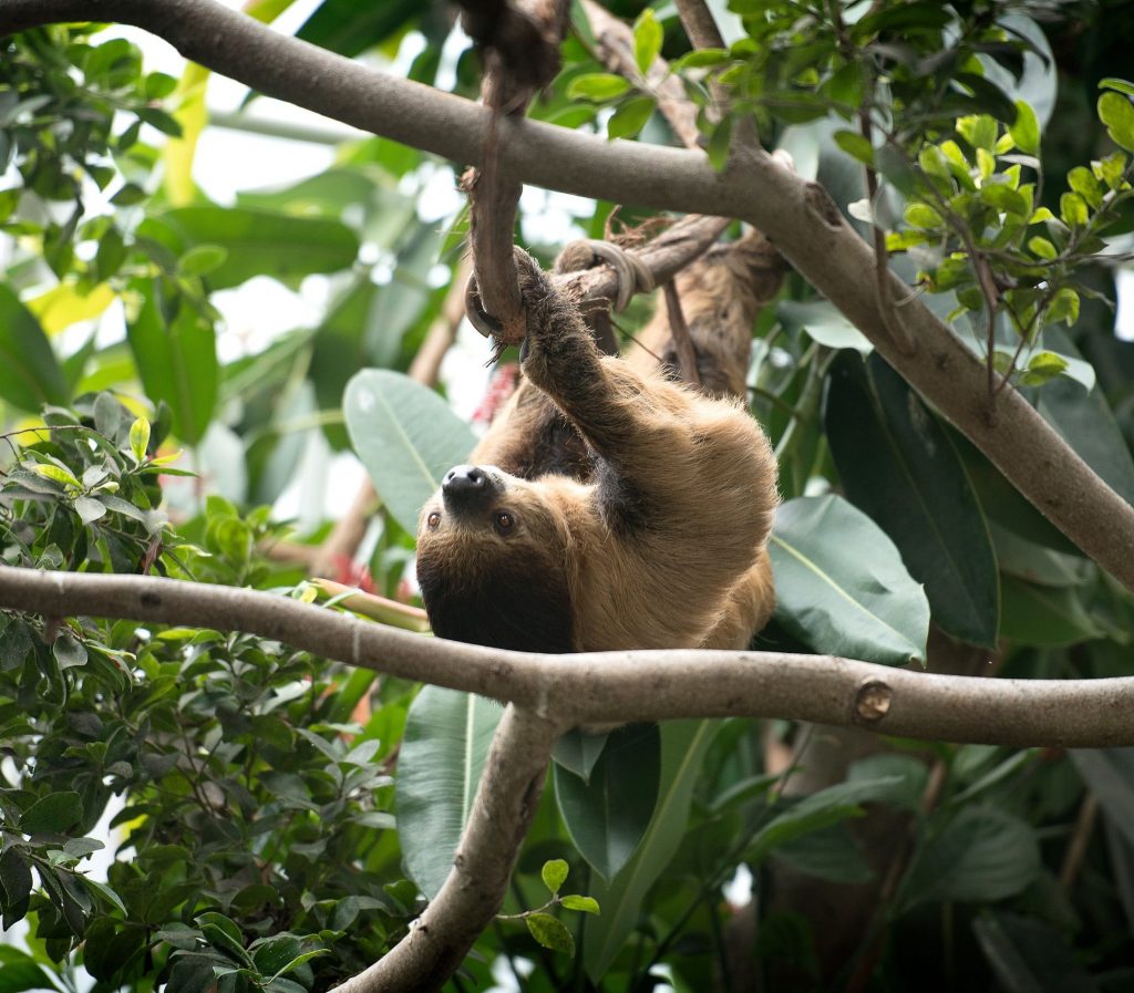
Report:
<svg viewBox="0 0 1134 993"><path fill-rule="evenodd" d="M215 0L5 0L0 34L100 18L134 24L184 56L271 96L378 135L480 164L484 108L393 79L272 32ZM920 302L903 306L915 343L890 343L870 273L873 253L827 192L760 150L736 150L717 173L704 156L532 121L502 120L501 158L527 183L581 196L751 221L914 388L964 432L1086 554L1134 589L1134 508L1115 493L1015 391L988 418L984 366ZM890 298L907 287L890 275Z"/></svg>

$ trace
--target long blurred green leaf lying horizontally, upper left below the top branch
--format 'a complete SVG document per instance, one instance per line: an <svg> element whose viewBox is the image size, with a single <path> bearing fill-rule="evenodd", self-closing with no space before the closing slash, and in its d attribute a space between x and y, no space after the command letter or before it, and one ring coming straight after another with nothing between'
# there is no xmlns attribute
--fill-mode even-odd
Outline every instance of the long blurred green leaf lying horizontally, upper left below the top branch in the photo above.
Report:
<svg viewBox="0 0 1134 993"><path fill-rule="evenodd" d="M178 207L142 223L138 235L176 256L200 245L223 248L223 261L205 277L214 290L254 275L287 280L336 272L358 255L358 236L341 221L242 207Z"/></svg>

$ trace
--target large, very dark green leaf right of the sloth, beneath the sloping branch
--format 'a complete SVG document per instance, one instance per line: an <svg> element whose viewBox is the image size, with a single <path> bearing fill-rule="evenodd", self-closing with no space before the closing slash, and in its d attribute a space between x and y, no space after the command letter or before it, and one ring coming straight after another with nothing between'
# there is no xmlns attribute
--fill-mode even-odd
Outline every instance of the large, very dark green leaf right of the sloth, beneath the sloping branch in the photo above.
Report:
<svg viewBox="0 0 1134 993"><path fill-rule="evenodd" d="M993 647L996 555L943 428L881 358L864 363L852 353L831 364L823 416L847 496L925 585L933 620L956 638Z"/></svg>

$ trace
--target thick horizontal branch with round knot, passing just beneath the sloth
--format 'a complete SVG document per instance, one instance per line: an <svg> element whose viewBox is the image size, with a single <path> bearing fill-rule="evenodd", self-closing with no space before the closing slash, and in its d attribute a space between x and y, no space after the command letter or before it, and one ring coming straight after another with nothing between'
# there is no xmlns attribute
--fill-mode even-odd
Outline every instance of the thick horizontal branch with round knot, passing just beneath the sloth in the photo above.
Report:
<svg viewBox="0 0 1134 993"><path fill-rule="evenodd" d="M564 727L785 718L990 745L1134 745L1134 677L980 679L772 652L539 655L423 638L287 597L142 576L0 567L0 608L247 631L352 665L506 699Z"/></svg>

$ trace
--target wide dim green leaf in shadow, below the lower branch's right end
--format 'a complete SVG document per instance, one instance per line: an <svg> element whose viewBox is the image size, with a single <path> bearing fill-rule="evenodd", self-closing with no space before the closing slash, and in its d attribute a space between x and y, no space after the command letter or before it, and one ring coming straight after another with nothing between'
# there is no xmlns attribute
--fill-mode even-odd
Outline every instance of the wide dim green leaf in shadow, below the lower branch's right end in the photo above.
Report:
<svg viewBox="0 0 1134 993"><path fill-rule="evenodd" d="M967 806L919 851L902 902L908 910L945 900L1004 900L1026 889L1041 868L1030 824L995 807Z"/></svg>

